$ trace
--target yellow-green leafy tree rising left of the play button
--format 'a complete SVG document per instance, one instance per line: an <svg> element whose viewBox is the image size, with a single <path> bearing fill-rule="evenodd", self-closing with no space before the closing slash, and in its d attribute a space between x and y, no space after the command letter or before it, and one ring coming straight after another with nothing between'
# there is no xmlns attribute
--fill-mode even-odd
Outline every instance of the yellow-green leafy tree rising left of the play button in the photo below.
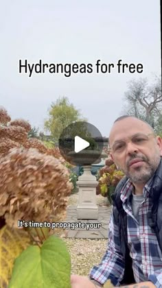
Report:
<svg viewBox="0 0 162 288"><path fill-rule="evenodd" d="M54 141L58 142L62 131L71 123L76 121L86 121L82 118L80 111L73 104L69 103L67 97L61 97L51 104L49 117L45 121L45 130L49 130Z"/></svg>

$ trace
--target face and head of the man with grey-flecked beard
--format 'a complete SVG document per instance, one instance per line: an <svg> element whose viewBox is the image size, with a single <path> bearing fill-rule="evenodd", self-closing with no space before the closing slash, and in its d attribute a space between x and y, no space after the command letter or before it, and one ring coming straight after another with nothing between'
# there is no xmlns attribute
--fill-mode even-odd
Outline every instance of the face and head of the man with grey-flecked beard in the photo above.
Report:
<svg viewBox="0 0 162 288"><path fill-rule="evenodd" d="M150 127L135 118L114 123L109 136L111 158L134 183L146 183L156 171L162 155L162 141Z"/></svg>

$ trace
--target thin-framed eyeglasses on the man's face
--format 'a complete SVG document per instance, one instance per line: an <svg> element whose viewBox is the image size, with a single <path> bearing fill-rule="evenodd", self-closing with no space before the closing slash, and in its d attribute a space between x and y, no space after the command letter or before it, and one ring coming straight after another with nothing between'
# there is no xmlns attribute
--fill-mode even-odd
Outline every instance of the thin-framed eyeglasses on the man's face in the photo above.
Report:
<svg viewBox="0 0 162 288"><path fill-rule="evenodd" d="M127 146L128 142L131 142L131 143L133 143L133 144L135 144L137 146L145 145L146 143L148 143L148 141L150 139L150 136L154 136L155 137L155 134L154 133L150 133L150 134L138 133L138 134L135 134L135 135L129 137L127 141L124 141L124 140L116 141L112 145L111 150L115 154L122 153L126 149L126 146Z"/></svg>

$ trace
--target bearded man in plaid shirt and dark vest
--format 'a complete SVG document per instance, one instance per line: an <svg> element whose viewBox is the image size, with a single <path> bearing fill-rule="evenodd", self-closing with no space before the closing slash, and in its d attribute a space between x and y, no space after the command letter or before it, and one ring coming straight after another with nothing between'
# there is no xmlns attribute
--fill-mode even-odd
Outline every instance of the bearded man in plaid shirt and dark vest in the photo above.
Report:
<svg viewBox="0 0 162 288"><path fill-rule="evenodd" d="M162 139L148 123L123 116L114 122L109 143L111 158L127 177L113 196L102 263L90 278L72 275L71 287L103 287L108 279L117 287L162 287Z"/></svg>

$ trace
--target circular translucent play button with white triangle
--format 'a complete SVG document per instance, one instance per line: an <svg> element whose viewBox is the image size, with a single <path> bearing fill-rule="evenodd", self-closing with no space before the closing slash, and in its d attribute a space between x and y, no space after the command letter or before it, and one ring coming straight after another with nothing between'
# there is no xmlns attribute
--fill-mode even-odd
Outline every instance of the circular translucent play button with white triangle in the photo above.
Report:
<svg viewBox="0 0 162 288"><path fill-rule="evenodd" d="M92 165L100 163L104 139L100 131L91 123L78 121L62 131L59 149L63 158L72 165Z"/></svg>

